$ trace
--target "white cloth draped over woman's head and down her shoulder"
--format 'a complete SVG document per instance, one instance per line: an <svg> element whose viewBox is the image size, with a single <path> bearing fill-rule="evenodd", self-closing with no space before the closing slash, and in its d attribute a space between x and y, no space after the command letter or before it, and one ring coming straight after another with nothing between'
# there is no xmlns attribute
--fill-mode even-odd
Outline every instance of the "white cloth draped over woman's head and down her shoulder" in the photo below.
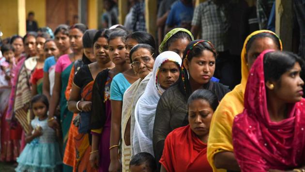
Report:
<svg viewBox="0 0 305 172"><path fill-rule="evenodd" d="M182 59L173 51L161 53L154 62L152 77L148 81L143 95L139 98L135 109L135 130L133 135L133 150L135 154L148 152L152 156L152 130L155 112L160 96L165 91L158 82L158 73L166 62L174 62L180 68Z"/></svg>

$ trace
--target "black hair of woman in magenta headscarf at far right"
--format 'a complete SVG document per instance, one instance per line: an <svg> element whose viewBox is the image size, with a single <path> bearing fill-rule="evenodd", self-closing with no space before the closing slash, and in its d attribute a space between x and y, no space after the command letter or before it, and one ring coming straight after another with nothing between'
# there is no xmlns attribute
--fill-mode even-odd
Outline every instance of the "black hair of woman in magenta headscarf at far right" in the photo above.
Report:
<svg viewBox="0 0 305 172"><path fill-rule="evenodd" d="M280 77L298 62L304 71L304 60L290 52L274 51L264 55L264 77L266 81L278 82Z"/></svg>

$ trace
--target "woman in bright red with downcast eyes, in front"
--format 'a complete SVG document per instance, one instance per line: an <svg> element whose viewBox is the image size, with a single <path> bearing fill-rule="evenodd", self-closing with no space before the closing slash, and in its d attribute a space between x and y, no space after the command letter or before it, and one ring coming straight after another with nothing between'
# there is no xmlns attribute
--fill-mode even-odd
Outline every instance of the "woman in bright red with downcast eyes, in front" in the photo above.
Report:
<svg viewBox="0 0 305 172"><path fill-rule="evenodd" d="M217 97L210 90L198 89L187 105L189 125L168 134L160 159L161 172L213 172L206 153Z"/></svg>

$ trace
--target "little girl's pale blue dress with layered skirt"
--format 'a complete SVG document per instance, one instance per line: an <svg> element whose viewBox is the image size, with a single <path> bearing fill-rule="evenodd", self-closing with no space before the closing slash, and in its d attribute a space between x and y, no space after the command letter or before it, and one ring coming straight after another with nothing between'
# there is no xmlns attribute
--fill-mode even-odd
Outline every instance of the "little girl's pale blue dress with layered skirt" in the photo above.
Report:
<svg viewBox="0 0 305 172"><path fill-rule="evenodd" d="M17 158L18 167L16 172L60 172L61 151L56 142L55 130L47 125L47 118L40 121L35 118L31 121L33 129L42 128L43 135L32 140L23 149Z"/></svg>

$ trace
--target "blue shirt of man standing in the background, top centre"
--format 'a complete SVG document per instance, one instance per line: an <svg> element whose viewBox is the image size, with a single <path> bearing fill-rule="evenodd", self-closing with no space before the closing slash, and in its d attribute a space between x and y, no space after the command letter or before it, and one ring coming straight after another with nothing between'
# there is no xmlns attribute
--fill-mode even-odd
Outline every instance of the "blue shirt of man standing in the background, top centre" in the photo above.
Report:
<svg viewBox="0 0 305 172"><path fill-rule="evenodd" d="M176 1L170 8L166 25L180 27L181 23L192 23L194 8L193 6L185 6L181 0Z"/></svg>

